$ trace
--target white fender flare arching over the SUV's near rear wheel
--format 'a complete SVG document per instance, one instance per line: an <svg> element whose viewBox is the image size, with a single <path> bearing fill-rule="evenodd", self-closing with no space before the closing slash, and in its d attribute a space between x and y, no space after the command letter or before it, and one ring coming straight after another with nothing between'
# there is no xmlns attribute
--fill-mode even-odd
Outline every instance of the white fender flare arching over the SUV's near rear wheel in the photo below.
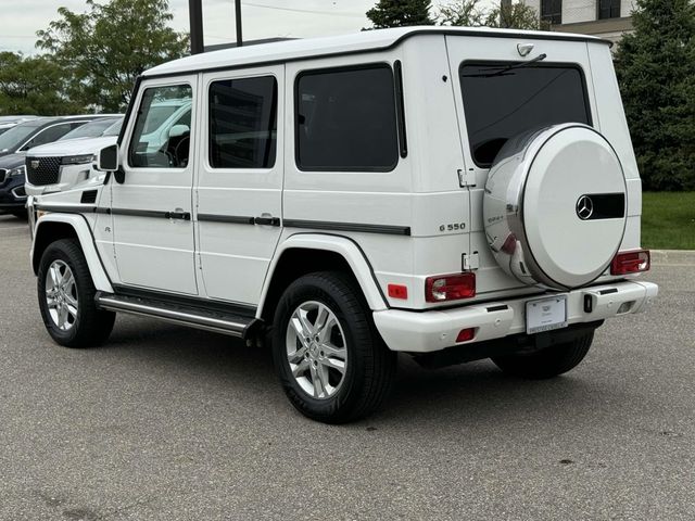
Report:
<svg viewBox="0 0 695 521"><path fill-rule="evenodd" d="M268 267L265 282L263 283L257 317L263 316L263 308L268 296L268 290L279 259L282 257L282 253L293 249L323 250L341 255L352 269L369 308L375 312L389 308L379 289L371 266L367 262L364 252L354 241L345 237L325 233L298 233L281 242L275 252L270 266Z"/></svg>

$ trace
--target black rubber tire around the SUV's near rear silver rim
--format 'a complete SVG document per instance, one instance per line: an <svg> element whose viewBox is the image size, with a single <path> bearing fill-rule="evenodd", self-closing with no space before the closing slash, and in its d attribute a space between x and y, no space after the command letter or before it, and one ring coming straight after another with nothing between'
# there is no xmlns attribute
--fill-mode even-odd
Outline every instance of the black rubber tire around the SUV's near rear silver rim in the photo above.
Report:
<svg viewBox="0 0 695 521"><path fill-rule="evenodd" d="M324 397L309 395L302 387L292 374L288 358L288 345L292 344L288 335L294 334L288 331L290 319L300 306L312 303L326 306L334 315L340 331L336 333L337 327L333 327L332 333L327 333L331 334L329 342L342 344L346 353L342 377L333 373L342 378L337 390ZM336 342L333 333L338 334ZM294 342L301 347L299 338ZM381 340L362 292L349 277L333 271L306 275L285 291L275 313L273 360L292 405L304 416L324 423L346 423L374 412L391 391L396 368L396 354ZM316 361L309 364L316 367Z"/></svg>

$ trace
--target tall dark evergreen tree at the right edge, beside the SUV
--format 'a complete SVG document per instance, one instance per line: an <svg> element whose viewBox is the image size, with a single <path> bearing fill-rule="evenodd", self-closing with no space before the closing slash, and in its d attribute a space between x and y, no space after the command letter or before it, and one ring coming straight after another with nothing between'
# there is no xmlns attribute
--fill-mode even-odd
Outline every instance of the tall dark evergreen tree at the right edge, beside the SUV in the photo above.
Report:
<svg viewBox="0 0 695 521"><path fill-rule="evenodd" d="M637 0L616 72L644 187L695 190L695 4Z"/></svg>

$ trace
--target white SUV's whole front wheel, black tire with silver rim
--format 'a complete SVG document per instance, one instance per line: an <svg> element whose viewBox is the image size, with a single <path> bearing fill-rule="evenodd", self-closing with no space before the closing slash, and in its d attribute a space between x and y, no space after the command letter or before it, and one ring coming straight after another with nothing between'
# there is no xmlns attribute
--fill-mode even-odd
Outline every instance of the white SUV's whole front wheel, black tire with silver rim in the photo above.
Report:
<svg viewBox="0 0 695 521"><path fill-rule="evenodd" d="M39 308L46 330L56 343L90 347L109 338L116 314L97 309L94 293L76 239L62 239L46 249L38 272Z"/></svg>

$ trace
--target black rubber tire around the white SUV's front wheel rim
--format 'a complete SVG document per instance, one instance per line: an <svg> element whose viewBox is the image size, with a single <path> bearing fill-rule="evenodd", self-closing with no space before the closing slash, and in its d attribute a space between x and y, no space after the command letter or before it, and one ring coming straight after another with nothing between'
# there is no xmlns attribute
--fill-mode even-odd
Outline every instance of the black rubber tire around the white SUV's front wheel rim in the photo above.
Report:
<svg viewBox="0 0 695 521"><path fill-rule="evenodd" d="M54 263L55 266L66 265L75 281L71 295L78 305L75 316L71 315L72 321L67 320L70 327L66 330L61 329L51 316L47 297L47 277L50 277L49 269ZM94 284L76 239L61 239L46 249L39 264L37 290L43 325L56 343L66 347L92 347L103 343L111 334L116 314L97 309Z"/></svg>

